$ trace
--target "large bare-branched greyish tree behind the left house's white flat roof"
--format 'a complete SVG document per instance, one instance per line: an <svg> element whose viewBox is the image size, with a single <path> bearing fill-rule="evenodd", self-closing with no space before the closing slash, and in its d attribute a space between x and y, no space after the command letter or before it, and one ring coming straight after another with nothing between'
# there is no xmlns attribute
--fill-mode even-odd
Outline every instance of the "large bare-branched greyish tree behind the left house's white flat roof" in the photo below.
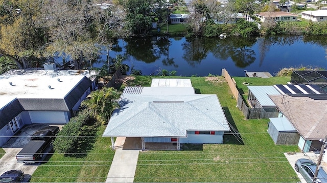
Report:
<svg viewBox="0 0 327 183"><path fill-rule="evenodd" d="M99 47L90 32L93 19L86 0L45 0L41 12L38 25L49 32L42 50L45 56L69 55L75 69L82 69L84 61L96 56Z"/></svg>

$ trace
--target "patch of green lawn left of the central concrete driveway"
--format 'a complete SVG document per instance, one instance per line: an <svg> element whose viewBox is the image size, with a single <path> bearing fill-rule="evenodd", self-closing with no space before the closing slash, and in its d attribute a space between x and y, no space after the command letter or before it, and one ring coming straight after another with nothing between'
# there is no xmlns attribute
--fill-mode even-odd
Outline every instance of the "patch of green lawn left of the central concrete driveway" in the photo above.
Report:
<svg viewBox="0 0 327 183"><path fill-rule="evenodd" d="M54 153L36 169L31 182L104 182L114 156L110 138L101 137L104 129L97 129L96 137L84 137L89 144L83 150L88 150L77 157Z"/></svg>

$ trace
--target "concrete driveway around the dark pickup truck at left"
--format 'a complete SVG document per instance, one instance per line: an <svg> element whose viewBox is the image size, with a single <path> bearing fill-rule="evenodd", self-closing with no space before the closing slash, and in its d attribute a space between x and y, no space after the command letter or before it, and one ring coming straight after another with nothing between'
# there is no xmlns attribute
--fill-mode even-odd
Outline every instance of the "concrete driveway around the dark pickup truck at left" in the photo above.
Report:
<svg viewBox="0 0 327 183"><path fill-rule="evenodd" d="M6 154L0 159L0 174L6 171L18 169L25 173L24 181L29 181L31 175L34 173L39 164L28 164L16 162L16 155L29 141L30 136L36 131L49 124L33 124L27 125L17 132L7 143L3 145ZM55 125L57 126L57 125ZM61 128L61 126L59 126ZM51 148L48 148L50 150ZM43 156L45 158L45 156Z"/></svg>

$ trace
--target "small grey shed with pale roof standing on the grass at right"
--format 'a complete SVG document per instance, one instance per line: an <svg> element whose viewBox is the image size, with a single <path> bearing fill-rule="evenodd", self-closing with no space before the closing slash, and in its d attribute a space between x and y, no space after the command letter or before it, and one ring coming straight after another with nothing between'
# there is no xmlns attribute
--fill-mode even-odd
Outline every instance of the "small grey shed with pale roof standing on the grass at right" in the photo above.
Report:
<svg viewBox="0 0 327 183"><path fill-rule="evenodd" d="M270 117L268 133L277 145L296 145L300 134L286 117Z"/></svg>

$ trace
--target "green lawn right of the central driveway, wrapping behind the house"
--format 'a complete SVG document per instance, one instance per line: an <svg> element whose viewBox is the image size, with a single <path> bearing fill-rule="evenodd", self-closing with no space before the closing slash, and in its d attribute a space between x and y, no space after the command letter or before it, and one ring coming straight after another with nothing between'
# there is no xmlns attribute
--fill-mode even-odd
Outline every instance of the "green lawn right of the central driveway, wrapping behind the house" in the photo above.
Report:
<svg viewBox="0 0 327 183"><path fill-rule="evenodd" d="M150 79L150 77L148 77ZM297 182L296 173L283 153L296 145L275 145L267 133L269 119L245 120L222 77L206 81L190 77L197 93L217 94L227 120L240 133L224 135L224 144L184 146L181 151L143 151L139 154L136 182ZM250 84L286 84L288 77L236 78ZM253 80L252 80L253 79ZM142 82L149 83L143 77ZM244 82L244 81L242 81ZM243 91L246 89L241 85ZM238 82L239 83L239 82Z"/></svg>

